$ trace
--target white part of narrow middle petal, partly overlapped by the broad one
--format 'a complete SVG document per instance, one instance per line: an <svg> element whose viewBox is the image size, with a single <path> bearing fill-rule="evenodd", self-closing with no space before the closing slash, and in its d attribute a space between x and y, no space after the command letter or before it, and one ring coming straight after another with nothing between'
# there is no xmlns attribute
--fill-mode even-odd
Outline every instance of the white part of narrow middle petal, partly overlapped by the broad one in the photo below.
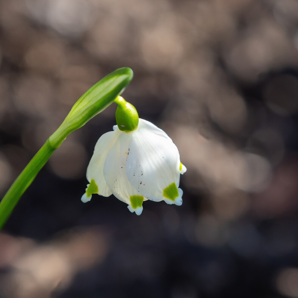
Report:
<svg viewBox="0 0 298 298"><path fill-rule="evenodd" d="M116 130L117 131L117 130ZM126 176L126 160L130 155L128 144L131 133L120 133L113 148L108 153L103 167L103 175L113 195L131 205L130 196L141 195L128 181Z"/></svg>

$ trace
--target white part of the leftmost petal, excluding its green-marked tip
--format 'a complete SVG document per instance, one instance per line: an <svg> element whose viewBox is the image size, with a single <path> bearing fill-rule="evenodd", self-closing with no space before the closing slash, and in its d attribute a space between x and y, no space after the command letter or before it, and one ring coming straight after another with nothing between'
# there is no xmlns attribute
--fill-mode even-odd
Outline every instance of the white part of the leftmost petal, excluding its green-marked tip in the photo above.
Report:
<svg viewBox="0 0 298 298"><path fill-rule="evenodd" d="M105 159L114 146L120 131L109 131L103 134L97 141L94 153L87 168L87 180L91 182L94 179L98 187L98 194L108 197L112 194L103 176L103 166Z"/></svg>

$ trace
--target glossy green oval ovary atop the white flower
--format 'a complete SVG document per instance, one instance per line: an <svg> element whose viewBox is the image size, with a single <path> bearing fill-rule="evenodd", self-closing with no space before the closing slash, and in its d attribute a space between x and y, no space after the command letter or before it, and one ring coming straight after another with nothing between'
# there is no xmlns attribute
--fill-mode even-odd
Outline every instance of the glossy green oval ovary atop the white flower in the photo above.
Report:
<svg viewBox="0 0 298 298"><path fill-rule="evenodd" d="M118 105L115 115L118 128L125 132L136 130L139 125L136 108L121 96L117 96L114 102Z"/></svg>

